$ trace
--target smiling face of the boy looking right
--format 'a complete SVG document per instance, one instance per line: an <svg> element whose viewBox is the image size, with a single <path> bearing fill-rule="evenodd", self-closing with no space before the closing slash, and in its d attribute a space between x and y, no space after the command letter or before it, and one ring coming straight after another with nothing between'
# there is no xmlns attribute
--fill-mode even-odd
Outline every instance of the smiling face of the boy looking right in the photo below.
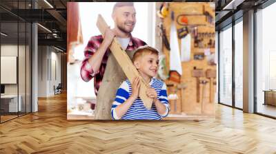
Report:
<svg viewBox="0 0 276 154"><path fill-rule="evenodd" d="M135 67L142 75L154 77L157 74L159 60L157 54L145 53L134 62Z"/></svg>

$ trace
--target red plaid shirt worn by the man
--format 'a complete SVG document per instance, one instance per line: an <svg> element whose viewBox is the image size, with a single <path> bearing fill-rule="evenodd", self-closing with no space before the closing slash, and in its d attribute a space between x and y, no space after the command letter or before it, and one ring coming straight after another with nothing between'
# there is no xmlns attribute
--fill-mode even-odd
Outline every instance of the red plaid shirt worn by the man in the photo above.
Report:
<svg viewBox="0 0 276 154"><path fill-rule="evenodd" d="M91 65L88 63L88 58L95 54L95 52L98 50L99 45L103 42L103 37L101 35L98 36L92 36L90 40L88 41L88 45L86 46L84 50L84 56L85 58L82 61L81 64L81 78L88 82L92 78L95 77L94 80L94 89L95 94L97 96L99 87L101 85L101 80L103 79L104 71L106 70L106 63L108 61L108 55L110 54L110 50L106 51L106 53L103 56L103 61L101 61L101 66L99 67L98 72L94 72ZM144 41L141 41L140 39L137 39L135 37L130 36L130 43L128 43L128 47L126 48L127 51L134 51L137 49L137 47L146 45Z"/></svg>

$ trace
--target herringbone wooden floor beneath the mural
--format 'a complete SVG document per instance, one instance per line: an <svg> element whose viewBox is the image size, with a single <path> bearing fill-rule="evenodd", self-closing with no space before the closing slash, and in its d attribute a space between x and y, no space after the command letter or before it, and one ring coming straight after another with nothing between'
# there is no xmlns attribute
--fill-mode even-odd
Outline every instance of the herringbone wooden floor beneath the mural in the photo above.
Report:
<svg viewBox="0 0 276 154"><path fill-rule="evenodd" d="M276 120L216 108L215 120L68 121L63 94L0 124L0 153L276 153Z"/></svg>

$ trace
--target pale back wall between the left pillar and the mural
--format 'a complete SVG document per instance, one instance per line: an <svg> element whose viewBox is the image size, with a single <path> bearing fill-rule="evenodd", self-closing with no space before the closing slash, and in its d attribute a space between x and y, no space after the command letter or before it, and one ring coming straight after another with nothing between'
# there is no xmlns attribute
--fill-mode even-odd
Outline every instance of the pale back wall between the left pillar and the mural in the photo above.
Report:
<svg viewBox="0 0 276 154"><path fill-rule="evenodd" d="M55 95L54 85L57 87L61 83L61 54L50 46L38 48L38 97L53 96ZM55 78L55 72L57 78Z"/></svg>

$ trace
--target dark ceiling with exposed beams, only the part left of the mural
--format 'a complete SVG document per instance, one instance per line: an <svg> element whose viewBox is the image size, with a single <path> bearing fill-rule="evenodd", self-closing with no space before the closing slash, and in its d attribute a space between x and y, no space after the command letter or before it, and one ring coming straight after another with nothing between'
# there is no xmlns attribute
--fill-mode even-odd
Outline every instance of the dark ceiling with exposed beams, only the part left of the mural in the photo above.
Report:
<svg viewBox="0 0 276 154"><path fill-rule="evenodd" d="M30 30L25 30L26 22L37 22L39 45L54 45L66 51L66 3L66 0L1 0L1 32L8 34L1 35L1 41L22 42L26 32L30 34Z"/></svg>

